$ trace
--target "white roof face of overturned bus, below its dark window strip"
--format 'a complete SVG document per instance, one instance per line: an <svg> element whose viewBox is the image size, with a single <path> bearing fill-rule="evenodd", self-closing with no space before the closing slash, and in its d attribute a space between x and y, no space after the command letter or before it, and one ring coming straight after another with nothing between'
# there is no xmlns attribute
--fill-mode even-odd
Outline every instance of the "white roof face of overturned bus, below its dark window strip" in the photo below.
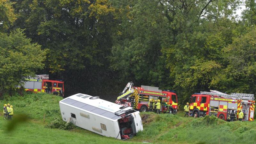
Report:
<svg viewBox="0 0 256 144"><path fill-rule="evenodd" d="M112 121L109 119L105 119L90 112L86 112L62 103L60 103L60 111L63 121L71 121L76 126L86 129L88 131L113 138L116 138L119 134L119 126L117 120ZM76 118L72 118L71 113L75 114ZM89 118L81 116L80 113L89 115ZM101 128L101 124L106 125L106 130L103 130ZM93 127L94 129L96 128L98 130L101 130L101 132L93 130ZM121 139L120 134L118 138Z"/></svg>

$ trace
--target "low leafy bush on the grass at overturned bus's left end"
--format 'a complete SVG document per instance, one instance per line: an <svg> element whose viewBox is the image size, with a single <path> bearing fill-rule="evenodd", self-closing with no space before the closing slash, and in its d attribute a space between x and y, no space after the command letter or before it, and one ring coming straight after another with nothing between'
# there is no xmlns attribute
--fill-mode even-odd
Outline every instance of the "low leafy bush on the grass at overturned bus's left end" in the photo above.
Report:
<svg viewBox="0 0 256 144"><path fill-rule="evenodd" d="M51 129L71 130L74 128L74 124L71 122L64 122L62 118L58 117L51 121L49 124L46 124L45 127Z"/></svg>

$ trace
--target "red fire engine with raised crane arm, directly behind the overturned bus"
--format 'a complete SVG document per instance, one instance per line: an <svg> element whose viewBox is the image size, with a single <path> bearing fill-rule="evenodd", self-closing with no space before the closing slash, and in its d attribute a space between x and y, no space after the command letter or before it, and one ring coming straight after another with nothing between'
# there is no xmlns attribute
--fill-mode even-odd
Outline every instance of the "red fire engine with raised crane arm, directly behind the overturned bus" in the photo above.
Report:
<svg viewBox="0 0 256 144"><path fill-rule="evenodd" d="M149 100L160 100L162 113L177 113L178 108L178 98L174 91L170 90L159 90L158 87L144 86L133 87L133 83L129 82L124 91L120 93L117 98L116 103L133 107L141 112L148 111L148 101Z"/></svg>

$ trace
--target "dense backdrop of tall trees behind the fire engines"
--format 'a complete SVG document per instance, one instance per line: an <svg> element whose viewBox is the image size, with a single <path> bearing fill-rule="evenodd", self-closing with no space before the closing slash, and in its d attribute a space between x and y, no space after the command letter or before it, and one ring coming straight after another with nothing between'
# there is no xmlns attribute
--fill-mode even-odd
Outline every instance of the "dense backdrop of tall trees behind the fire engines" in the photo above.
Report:
<svg viewBox="0 0 256 144"><path fill-rule="evenodd" d="M21 28L47 49L37 73L63 79L66 95L117 95L129 81L175 90L181 103L209 89L256 92L254 0L0 2L4 35Z"/></svg>

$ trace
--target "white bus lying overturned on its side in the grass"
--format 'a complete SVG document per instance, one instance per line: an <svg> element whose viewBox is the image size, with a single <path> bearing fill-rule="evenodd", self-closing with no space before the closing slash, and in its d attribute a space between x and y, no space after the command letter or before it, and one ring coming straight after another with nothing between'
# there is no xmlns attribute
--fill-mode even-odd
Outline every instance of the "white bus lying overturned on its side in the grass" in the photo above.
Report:
<svg viewBox="0 0 256 144"><path fill-rule="evenodd" d="M98 96L72 95L60 101L60 111L63 121L107 137L124 140L143 131L139 111Z"/></svg>

